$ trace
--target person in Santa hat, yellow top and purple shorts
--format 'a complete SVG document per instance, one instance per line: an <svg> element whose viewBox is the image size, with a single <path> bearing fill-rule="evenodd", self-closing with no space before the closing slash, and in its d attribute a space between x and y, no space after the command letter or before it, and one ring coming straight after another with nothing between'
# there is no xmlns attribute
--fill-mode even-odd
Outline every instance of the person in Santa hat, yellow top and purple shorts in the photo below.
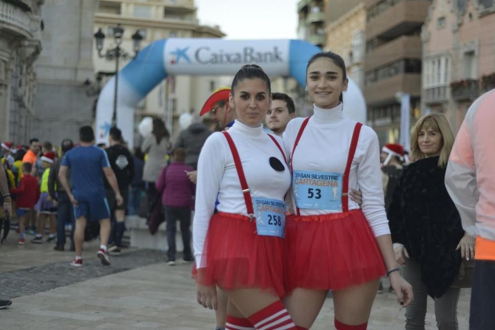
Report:
<svg viewBox="0 0 495 330"><path fill-rule="evenodd" d="M55 160L55 153L53 151L47 151L41 157L43 163L43 176L41 177L40 187L40 199L35 205L35 210L40 212L40 220L38 222L38 234L31 240L31 243L41 244L43 243L43 234L45 231L45 224L47 218L49 218L50 234L47 242L55 242L55 233L57 230L57 207L48 193L48 177L50 175L50 166Z"/></svg>

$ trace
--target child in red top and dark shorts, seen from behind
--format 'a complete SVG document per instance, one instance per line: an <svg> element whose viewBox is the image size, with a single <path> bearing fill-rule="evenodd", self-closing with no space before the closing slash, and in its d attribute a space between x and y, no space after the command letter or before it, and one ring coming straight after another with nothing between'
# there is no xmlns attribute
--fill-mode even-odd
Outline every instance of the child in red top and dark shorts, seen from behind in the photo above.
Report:
<svg viewBox="0 0 495 330"><path fill-rule="evenodd" d="M33 170L31 163L22 164L22 179L19 188L14 188L10 192L16 195L17 217L19 218L19 240L17 244L24 245L24 221L30 219L36 201L40 198L38 180L30 173Z"/></svg>

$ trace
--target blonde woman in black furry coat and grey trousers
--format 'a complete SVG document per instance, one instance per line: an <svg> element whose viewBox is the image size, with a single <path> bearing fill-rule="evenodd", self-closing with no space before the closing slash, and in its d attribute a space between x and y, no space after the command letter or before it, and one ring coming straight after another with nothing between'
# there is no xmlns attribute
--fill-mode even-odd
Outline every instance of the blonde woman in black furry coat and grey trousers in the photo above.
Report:
<svg viewBox="0 0 495 330"><path fill-rule="evenodd" d="M453 284L461 256L474 259L475 238L464 233L444 183L453 144L444 115L420 118L411 134L414 161L404 166L389 208L396 260L416 298L406 308L405 329L424 329L428 295L435 298L438 329L458 329L460 287Z"/></svg>

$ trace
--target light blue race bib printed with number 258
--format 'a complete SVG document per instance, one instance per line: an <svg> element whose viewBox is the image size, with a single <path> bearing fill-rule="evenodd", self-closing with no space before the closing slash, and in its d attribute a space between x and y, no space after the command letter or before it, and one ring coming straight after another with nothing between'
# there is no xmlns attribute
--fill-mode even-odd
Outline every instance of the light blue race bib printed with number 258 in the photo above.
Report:
<svg viewBox="0 0 495 330"><path fill-rule="evenodd" d="M258 235L284 238L286 212L284 201L264 197L255 197L252 201Z"/></svg>

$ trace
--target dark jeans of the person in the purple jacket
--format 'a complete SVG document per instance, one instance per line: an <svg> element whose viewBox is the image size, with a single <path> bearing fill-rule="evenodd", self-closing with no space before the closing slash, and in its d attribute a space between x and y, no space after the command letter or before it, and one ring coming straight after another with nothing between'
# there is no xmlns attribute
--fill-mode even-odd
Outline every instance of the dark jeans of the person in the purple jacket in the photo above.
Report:
<svg viewBox="0 0 495 330"><path fill-rule="evenodd" d="M177 206L164 206L165 209L165 221L167 223L167 243L168 261L175 261L175 233L177 229L175 224L177 220L181 223L182 242L184 243L184 260L192 260L193 254L191 252L191 207L177 207Z"/></svg>

